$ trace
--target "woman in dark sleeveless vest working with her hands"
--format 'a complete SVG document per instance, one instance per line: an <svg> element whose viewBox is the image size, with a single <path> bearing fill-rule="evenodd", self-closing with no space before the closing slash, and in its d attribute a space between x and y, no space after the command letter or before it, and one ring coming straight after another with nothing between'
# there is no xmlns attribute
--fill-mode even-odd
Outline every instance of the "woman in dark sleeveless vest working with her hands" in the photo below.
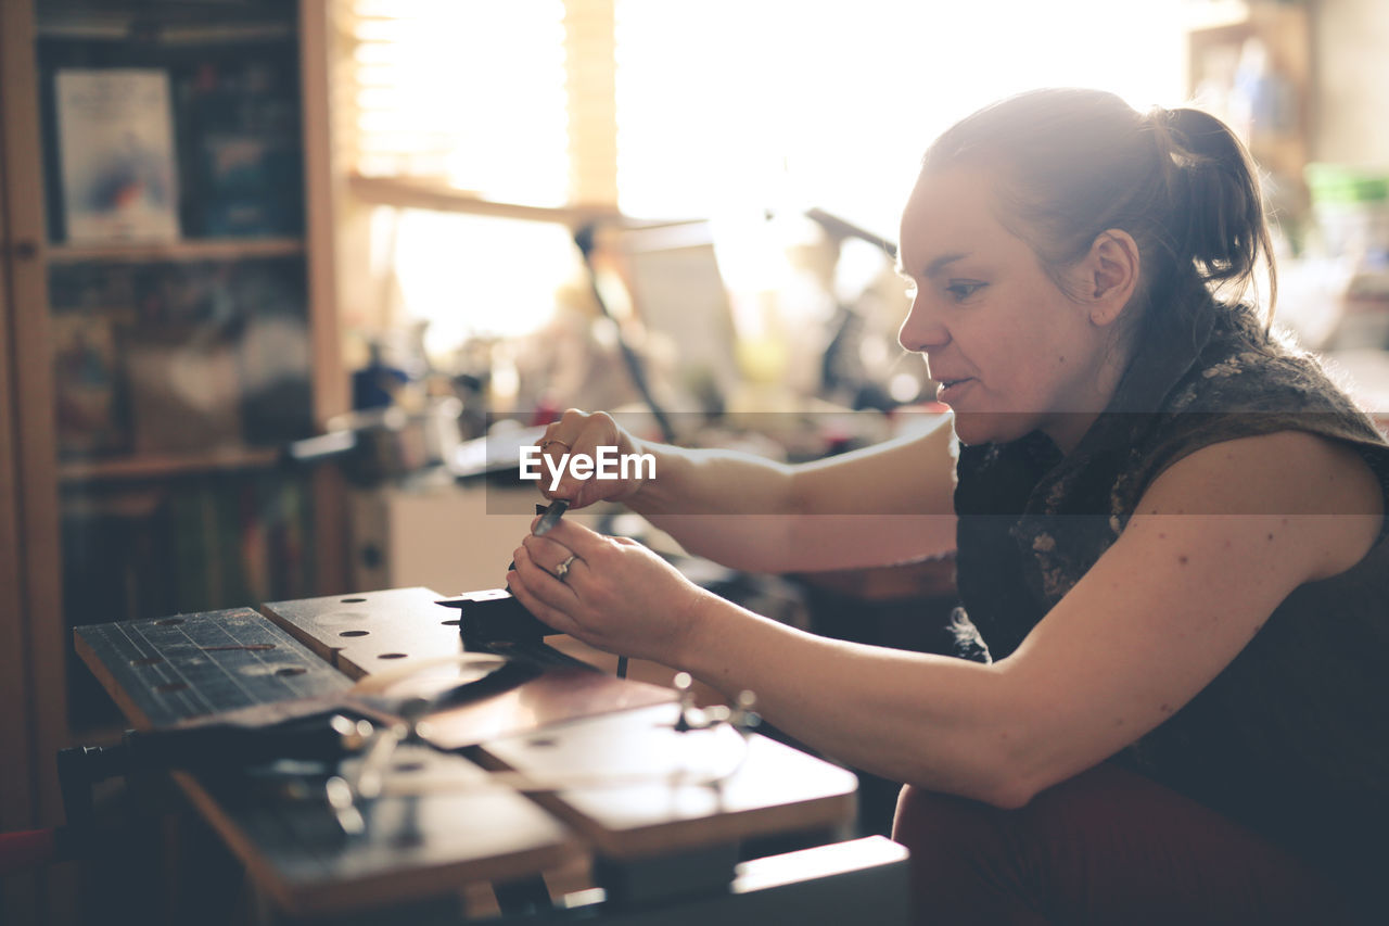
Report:
<svg viewBox="0 0 1389 926"><path fill-rule="evenodd" d="M1389 446L1213 296L1260 260L1256 175L1220 121L1033 92L942 135L903 213L900 339L951 430L786 467L604 414L549 428L544 452L617 445L657 473L554 496L622 501L732 566L957 549L972 658L800 633L568 521L524 539L508 584L560 631L751 688L789 734L907 783L924 920L1335 922L1389 823Z"/></svg>

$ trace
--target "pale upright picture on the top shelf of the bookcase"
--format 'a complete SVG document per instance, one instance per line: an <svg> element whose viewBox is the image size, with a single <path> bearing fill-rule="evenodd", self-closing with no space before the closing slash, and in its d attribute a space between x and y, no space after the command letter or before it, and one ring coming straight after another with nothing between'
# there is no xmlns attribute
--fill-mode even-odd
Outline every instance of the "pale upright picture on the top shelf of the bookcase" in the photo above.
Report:
<svg viewBox="0 0 1389 926"><path fill-rule="evenodd" d="M60 70L56 97L68 241L176 241L178 172L168 72Z"/></svg>

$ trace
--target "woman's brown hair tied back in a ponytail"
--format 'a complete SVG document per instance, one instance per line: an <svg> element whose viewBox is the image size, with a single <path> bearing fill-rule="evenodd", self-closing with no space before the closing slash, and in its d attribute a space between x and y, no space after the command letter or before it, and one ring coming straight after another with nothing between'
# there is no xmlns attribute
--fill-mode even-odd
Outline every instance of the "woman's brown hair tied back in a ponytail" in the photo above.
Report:
<svg viewBox="0 0 1389 926"><path fill-rule="evenodd" d="M1243 295L1260 260L1278 284L1258 174L1229 127L1196 108L1139 113L1113 93L1043 89L965 117L929 147L922 172L1000 170L1000 206L1060 281L1106 228L1138 242L1147 327L1190 321L1207 293ZM1171 306L1178 317L1154 318ZM1228 306L1249 313L1245 306ZM1167 311L1160 314L1168 314Z"/></svg>

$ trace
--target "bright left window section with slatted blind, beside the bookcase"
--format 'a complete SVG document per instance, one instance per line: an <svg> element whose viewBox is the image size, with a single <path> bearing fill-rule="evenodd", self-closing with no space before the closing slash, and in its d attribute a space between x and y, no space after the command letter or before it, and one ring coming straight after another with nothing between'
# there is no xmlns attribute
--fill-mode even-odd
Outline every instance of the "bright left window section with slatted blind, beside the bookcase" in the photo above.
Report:
<svg viewBox="0 0 1389 926"><path fill-rule="evenodd" d="M563 0L344 0L344 167L488 199L569 199Z"/></svg>

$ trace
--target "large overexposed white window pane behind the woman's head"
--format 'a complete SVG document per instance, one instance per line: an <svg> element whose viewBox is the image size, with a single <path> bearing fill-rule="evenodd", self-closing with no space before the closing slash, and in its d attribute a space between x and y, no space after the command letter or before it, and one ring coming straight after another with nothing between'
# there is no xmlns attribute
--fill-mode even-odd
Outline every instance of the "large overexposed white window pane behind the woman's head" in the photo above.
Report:
<svg viewBox="0 0 1389 926"><path fill-rule="evenodd" d="M617 0L617 57L624 211L799 202L889 238L926 145L985 103L1183 92L1181 0Z"/></svg>

